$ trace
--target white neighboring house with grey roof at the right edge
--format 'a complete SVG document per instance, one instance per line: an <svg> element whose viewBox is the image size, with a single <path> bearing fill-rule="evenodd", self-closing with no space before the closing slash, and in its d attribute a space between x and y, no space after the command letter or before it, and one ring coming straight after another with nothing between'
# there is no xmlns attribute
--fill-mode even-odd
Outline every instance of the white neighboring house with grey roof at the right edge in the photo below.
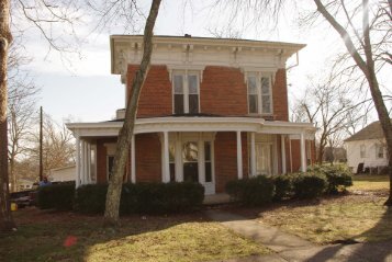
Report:
<svg viewBox="0 0 392 262"><path fill-rule="evenodd" d="M388 164L385 137L380 122L373 122L345 140L348 167L357 172L363 168L382 168Z"/></svg>

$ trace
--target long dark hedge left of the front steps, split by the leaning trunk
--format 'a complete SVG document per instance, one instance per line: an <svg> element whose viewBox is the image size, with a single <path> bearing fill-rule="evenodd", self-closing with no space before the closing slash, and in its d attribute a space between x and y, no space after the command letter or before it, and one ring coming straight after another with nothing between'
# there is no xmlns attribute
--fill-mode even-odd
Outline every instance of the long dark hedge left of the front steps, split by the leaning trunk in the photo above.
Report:
<svg viewBox="0 0 392 262"><path fill-rule="evenodd" d="M104 212L108 185L82 185L77 190L75 209L88 214ZM164 214L199 208L204 200L204 187L198 183L137 183L124 184L121 214Z"/></svg>

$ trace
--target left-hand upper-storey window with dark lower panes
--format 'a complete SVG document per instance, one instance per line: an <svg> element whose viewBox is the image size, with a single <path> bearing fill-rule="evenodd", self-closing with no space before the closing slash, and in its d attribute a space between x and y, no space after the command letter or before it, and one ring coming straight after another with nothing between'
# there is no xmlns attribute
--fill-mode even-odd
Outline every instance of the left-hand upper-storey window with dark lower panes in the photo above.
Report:
<svg viewBox="0 0 392 262"><path fill-rule="evenodd" d="M193 71L175 71L173 84L173 113L199 113L199 73Z"/></svg>

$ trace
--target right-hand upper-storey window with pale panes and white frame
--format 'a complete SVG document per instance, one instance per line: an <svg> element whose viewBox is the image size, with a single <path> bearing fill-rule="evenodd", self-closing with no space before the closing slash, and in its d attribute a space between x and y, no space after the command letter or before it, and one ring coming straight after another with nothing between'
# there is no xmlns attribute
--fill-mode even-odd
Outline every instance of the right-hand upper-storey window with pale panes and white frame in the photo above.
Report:
<svg viewBox="0 0 392 262"><path fill-rule="evenodd" d="M249 114L272 114L271 77L249 73L247 83Z"/></svg>

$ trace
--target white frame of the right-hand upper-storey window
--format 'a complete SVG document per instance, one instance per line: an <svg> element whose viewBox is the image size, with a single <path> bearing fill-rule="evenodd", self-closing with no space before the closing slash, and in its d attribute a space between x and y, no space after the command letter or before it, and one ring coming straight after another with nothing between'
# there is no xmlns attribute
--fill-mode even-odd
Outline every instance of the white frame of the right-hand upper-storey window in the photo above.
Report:
<svg viewBox="0 0 392 262"><path fill-rule="evenodd" d="M273 99L272 99L272 75L266 72L247 72L246 73L246 100L247 100L247 110L248 114L255 114L249 112L249 87L248 87L248 78L256 78L256 89L257 89L257 113L259 115L272 115L273 114ZM261 78L268 78L269 82L269 104L270 109L268 113L262 112L262 94L261 94Z"/></svg>

